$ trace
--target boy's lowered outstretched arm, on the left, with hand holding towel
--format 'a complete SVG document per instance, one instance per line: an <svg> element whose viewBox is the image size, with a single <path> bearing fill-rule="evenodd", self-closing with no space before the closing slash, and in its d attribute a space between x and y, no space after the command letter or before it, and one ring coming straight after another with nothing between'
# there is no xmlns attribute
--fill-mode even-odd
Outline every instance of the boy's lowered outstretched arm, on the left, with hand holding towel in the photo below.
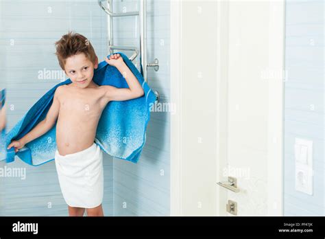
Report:
<svg viewBox="0 0 325 239"><path fill-rule="evenodd" d="M27 133L24 137L19 139L18 141L12 141L11 144L9 144L8 149L14 146L15 151L18 151L19 148L23 148L25 144L27 144L29 141L32 141L41 135L44 135L47 133L48 130L52 128L52 126L56 123L56 120L58 119L58 114L60 110L60 102L58 100L58 91L60 91L58 87L56 89L56 92L54 93L53 102L52 105L47 112L47 116L44 120L39 122L29 133Z"/></svg>

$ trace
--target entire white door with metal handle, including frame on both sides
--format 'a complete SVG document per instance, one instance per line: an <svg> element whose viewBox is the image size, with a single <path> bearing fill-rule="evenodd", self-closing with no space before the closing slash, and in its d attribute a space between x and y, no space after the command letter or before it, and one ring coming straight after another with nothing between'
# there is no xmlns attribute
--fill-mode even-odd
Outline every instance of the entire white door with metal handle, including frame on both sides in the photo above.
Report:
<svg viewBox="0 0 325 239"><path fill-rule="evenodd" d="M282 214L283 26L284 0L171 1L172 216Z"/></svg>

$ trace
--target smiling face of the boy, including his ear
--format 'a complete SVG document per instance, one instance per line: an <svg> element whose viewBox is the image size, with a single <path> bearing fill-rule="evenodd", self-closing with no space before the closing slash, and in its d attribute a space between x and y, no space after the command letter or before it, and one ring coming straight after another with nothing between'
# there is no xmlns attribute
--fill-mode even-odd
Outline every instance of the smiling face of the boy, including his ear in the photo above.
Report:
<svg viewBox="0 0 325 239"><path fill-rule="evenodd" d="M98 59L95 65L86 58L84 53L80 53L67 58L64 70L76 87L86 88L93 80L94 69L98 67Z"/></svg>

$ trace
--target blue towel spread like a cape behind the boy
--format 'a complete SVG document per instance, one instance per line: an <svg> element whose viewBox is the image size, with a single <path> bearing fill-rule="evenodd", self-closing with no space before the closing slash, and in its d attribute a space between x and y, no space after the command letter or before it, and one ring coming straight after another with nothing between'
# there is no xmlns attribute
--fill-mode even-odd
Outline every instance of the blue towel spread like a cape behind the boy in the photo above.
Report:
<svg viewBox="0 0 325 239"><path fill-rule="evenodd" d="M150 109L156 101L156 95L143 80L143 76L125 54L121 54L125 64L139 80L145 92L140 98L111 101L102 112L97 126L95 143L104 152L118 159L137 163L145 145L145 129L149 122ZM117 54L115 53L115 54ZM109 55L110 56L110 55ZM109 57L108 56L108 57ZM98 85L112 85L128 88L128 83L116 67L100 62L94 71L93 81ZM67 79L47 91L23 118L6 135L6 146L12 139L18 140L26 135L40 121L44 120L51 107L54 92L62 84L71 84ZM6 162L14 161L15 154L32 166L39 166L54 159L56 152L56 124L47 133L25 144L18 152L14 148L7 150Z"/></svg>

